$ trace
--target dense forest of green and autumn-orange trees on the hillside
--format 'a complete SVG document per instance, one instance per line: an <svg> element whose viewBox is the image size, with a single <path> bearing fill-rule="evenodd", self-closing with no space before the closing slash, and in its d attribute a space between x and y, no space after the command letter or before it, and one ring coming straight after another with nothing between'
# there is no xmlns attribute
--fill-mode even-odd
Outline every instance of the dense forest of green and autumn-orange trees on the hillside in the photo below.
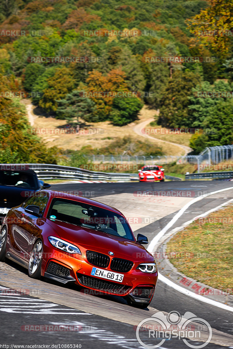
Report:
<svg viewBox="0 0 233 349"><path fill-rule="evenodd" d="M201 36L232 30L233 2L226 0L2 0L0 91L35 92L32 101L57 118L136 120L144 104L160 109L166 127L214 128L194 135L191 147L233 142L232 98L195 97L196 91L233 91L232 36ZM137 36L85 36L92 30L136 30ZM6 36L25 30L25 36ZM149 34L149 35L147 35ZM145 57L215 57L213 62L153 63ZM35 61L34 57L88 57L84 62ZM83 91L137 91L134 98L82 97ZM143 92L151 92L144 96ZM38 159L39 140L28 135L19 104L0 98L0 158ZM20 133L15 148L10 140ZM18 134L17 134L18 136ZM30 151L23 149L28 138ZM16 138L15 138L16 139ZM28 147L28 145L27 145ZM56 162L44 148L41 161ZM5 154L5 155L4 155ZM6 158L6 154L7 158ZM37 160L38 162L38 160Z"/></svg>

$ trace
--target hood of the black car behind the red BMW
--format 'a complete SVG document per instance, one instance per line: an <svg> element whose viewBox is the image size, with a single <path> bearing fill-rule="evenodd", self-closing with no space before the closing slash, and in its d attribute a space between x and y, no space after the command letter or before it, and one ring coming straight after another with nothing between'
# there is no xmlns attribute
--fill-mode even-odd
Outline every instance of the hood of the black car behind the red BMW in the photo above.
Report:
<svg viewBox="0 0 233 349"><path fill-rule="evenodd" d="M35 190L0 185L0 207L15 207L25 201Z"/></svg>

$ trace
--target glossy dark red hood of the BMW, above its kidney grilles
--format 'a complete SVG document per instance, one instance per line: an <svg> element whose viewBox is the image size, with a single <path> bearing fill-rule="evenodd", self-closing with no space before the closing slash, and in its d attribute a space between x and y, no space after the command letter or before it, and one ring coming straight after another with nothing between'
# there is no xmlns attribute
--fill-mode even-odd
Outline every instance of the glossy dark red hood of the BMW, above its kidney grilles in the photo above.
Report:
<svg viewBox="0 0 233 349"><path fill-rule="evenodd" d="M145 247L135 241L126 240L121 237L106 234L93 229L82 228L63 222L46 222L64 239L78 247L109 255L114 252L114 257L128 259L131 261L150 261L153 256L146 251ZM58 224L57 224L58 223Z"/></svg>

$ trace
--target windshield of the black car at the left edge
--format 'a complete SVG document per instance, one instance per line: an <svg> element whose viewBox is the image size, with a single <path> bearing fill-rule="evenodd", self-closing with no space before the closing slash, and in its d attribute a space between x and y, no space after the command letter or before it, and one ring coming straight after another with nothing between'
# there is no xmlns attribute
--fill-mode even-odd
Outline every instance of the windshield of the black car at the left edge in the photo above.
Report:
<svg viewBox="0 0 233 349"><path fill-rule="evenodd" d="M0 171L0 185L10 185L22 188L36 188L35 176L23 171Z"/></svg>

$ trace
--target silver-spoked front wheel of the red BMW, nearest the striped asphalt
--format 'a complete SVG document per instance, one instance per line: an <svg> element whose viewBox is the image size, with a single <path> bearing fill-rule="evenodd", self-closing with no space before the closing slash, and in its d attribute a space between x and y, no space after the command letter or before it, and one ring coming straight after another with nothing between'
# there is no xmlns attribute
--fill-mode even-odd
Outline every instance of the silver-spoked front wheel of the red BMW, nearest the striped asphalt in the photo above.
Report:
<svg viewBox="0 0 233 349"><path fill-rule="evenodd" d="M41 240L37 240L37 242L32 248L28 263L28 275L33 279L39 279L41 276L42 259L43 244Z"/></svg>

